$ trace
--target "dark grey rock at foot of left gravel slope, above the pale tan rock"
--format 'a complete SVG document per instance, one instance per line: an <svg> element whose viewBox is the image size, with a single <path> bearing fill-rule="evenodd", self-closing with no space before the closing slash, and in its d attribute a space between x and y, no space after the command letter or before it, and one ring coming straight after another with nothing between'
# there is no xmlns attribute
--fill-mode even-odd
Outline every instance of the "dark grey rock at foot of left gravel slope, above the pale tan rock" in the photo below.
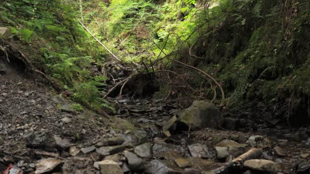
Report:
<svg viewBox="0 0 310 174"><path fill-rule="evenodd" d="M30 132L25 135L25 142L28 147L54 147L54 142L50 138L50 134L45 131Z"/></svg>

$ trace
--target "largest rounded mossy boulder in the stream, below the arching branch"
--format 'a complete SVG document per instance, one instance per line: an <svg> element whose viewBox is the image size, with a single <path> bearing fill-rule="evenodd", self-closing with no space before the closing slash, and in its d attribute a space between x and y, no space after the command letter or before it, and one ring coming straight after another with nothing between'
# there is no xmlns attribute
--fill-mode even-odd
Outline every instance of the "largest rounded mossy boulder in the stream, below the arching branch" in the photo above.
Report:
<svg viewBox="0 0 310 174"><path fill-rule="evenodd" d="M219 128L224 119L214 104L194 101L189 108L184 110L179 121L191 126L193 130L199 130L202 128Z"/></svg>

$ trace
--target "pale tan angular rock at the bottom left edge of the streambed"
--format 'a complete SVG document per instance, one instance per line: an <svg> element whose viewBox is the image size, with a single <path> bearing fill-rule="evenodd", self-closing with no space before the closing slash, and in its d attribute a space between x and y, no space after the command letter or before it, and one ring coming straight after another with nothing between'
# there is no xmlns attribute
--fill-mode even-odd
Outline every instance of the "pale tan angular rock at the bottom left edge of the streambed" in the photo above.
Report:
<svg viewBox="0 0 310 174"><path fill-rule="evenodd" d="M36 164L35 174L47 173L57 170L64 162L56 158L42 159Z"/></svg>

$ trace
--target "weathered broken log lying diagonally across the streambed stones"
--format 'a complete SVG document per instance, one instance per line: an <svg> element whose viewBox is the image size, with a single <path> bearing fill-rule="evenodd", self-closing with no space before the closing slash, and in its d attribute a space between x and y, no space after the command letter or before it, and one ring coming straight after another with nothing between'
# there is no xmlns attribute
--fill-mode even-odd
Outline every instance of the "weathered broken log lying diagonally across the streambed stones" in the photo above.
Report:
<svg viewBox="0 0 310 174"><path fill-rule="evenodd" d="M228 162L227 165L222 166L220 168L211 170L207 173L215 173L215 174L228 174L228 173L238 173L241 170L243 163L246 160L250 159L258 159L263 155L262 149L251 149L248 152L240 155L239 157L235 158L233 161Z"/></svg>

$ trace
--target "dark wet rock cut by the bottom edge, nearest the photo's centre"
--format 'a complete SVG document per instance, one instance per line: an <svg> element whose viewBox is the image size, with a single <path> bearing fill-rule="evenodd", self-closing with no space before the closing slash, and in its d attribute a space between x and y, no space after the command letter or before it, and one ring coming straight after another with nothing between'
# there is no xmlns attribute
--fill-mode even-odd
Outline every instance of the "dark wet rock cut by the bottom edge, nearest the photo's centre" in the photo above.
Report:
<svg viewBox="0 0 310 174"><path fill-rule="evenodd" d="M152 160L145 169L145 172L148 174L182 173L183 171L182 168L179 168L173 162L166 160Z"/></svg>

